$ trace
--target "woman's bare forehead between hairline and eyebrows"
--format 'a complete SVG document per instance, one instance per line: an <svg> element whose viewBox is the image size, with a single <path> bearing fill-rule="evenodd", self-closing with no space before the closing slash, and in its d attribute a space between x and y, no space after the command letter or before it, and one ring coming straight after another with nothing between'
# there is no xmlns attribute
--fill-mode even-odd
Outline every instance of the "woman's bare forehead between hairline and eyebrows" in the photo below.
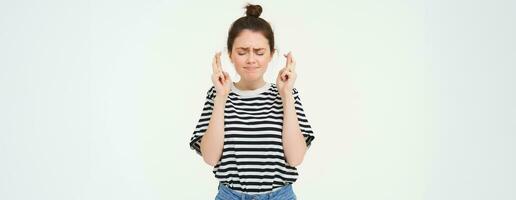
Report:
<svg viewBox="0 0 516 200"><path fill-rule="evenodd" d="M262 33L246 29L235 38L233 48L268 49L269 41Z"/></svg>

